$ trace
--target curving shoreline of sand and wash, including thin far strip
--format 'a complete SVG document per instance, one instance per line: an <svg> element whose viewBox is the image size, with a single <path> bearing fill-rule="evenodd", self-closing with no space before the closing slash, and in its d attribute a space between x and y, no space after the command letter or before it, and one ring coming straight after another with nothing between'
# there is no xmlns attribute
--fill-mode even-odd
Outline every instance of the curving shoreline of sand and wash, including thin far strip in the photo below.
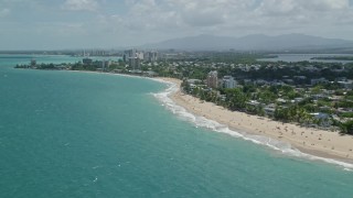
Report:
<svg viewBox="0 0 353 198"><path fill-rule="evenodd" d="M69 72L82 73L83 70ZM84 70L83 73L146 78L175 85L178 90L167 94L169 99L193 116L203 117L223 127L227 127L229 131L236 133L232 133L231 135L233 136L243 136L245 140L267 145L291 156L324 161L353 169L353 136L340 135L338 132L329 132L313 128L302 128L295 123L282 123L245 112L231 111L215 103L201 101L199 98L181 92L180 85L182 81L175 78L150 78L88 70ZM208 128L207 125L203 127Z"/></svg>

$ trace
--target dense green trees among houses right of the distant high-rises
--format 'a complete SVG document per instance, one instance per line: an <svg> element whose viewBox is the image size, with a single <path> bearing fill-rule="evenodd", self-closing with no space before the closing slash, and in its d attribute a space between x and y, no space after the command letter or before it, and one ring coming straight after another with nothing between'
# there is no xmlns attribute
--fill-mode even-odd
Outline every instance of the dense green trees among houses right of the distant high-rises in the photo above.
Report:
<svg viewBox="0 0 353 198"><path fill-rule="evenodd" d="M167 64L164 68L171 67ZM226 75L235 77L238 86L234 89L210 89L205 81L211 70L217 70L220 79ZM178 63L168 74L184 79L182 87L185 92L231 110L353 133L352 90L339 82L353 76L352 64L194 62ZM322 81L312 81L321 78ZM204 84L192 88L186 79L201 79Z"/></svg>

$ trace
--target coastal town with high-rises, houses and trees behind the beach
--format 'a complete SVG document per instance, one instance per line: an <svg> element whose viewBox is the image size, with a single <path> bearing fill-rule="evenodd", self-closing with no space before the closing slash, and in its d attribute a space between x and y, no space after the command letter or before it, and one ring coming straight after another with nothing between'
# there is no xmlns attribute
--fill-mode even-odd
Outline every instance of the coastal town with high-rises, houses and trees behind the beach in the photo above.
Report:
<svg viewBox="0 0 353 198"><path fill-rule="evenodd" d="M264 54L124 51L119 61L17 68L117 73L183 80L183 92L232 111L353 134L353 64L258 62Z"/></svg>

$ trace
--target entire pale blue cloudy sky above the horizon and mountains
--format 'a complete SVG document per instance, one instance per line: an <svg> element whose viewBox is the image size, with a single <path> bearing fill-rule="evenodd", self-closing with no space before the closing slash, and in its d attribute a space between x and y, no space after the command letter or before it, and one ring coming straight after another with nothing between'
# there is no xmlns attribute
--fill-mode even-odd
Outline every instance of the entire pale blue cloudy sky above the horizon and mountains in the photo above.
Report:
<svg viewBox="0 0 353 198"><path fill-rule="evenodd" d="M212 34L353 40L353 0L0 0L0 50L117 48Z"/></svg>

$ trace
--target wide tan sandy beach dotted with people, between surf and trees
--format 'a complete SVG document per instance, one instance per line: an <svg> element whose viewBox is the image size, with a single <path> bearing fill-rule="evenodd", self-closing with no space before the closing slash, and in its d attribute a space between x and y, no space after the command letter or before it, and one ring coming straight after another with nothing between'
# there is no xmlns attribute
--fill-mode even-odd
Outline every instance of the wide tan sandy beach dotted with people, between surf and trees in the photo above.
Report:
<svg viewBox="0 0 353 198"><path fill-rule="evenodd" d="M178 86L181 84L178 79L161 79ZM170 98L189 112L225 124L234 131L268 136L289 143L302 153L353 164L353 136L351 135L340 135L338 132L302 128L295 123L282 123L244 112L229 111L180 90L172 94Z"/></svg>

